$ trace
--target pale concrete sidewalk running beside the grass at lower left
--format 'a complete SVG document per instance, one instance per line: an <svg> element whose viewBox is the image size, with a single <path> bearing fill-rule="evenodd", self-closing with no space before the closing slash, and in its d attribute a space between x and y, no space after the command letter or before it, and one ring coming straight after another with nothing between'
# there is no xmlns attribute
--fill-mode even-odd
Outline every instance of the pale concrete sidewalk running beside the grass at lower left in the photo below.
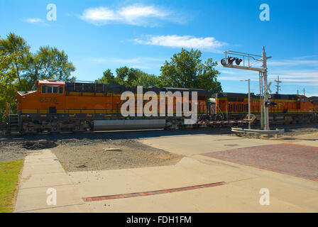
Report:
<svg viewBox="0 0 318 227"><path fill-rule="evenodd" d="M48 189L57 204L48 205ZM34 151L24 161L14 212L89 212L70 176L50 150Z"/></svg>

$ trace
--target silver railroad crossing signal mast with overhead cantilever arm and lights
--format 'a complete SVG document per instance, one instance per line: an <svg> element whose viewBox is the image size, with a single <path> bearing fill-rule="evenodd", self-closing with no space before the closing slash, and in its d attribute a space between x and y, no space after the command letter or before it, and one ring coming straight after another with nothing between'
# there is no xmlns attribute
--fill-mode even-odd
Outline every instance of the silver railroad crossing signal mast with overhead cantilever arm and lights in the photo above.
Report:
<svg viewBox="0 0 318 227"><path fill-rule="evenodd" d="M265 47L263 47L262 55L251 55L243 52L226 51L225 57L221 60L221 65L227 68L238 70L251 70L259 73L260 96L261 96L261 127L264 131L270 131L268 106L270 106L270 84L267 79L267 60ZM262 62L262 67L253 67L255 62ZM235 65L234 65L235 63Z"/></svg>

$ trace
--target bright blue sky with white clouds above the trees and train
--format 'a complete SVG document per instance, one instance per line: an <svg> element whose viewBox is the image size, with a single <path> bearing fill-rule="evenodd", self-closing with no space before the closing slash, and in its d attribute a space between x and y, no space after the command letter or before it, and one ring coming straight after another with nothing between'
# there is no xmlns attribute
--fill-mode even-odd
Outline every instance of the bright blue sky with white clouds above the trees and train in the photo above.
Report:
<svg viewBox="0 0 318 227"><path fill-rule="evenodd" d="M57 20L48 21L48 4ZM270 21L261 21L261 4ZM73 76L93 81L117 67L137 67L159 75L160 66L181 48L202 51L218 62L225 50L268 56L268 79L280 75L283 94L305 88L318 96L317 1L21 1L0 0L0 35L25 38L35 52L41 45L65 50ZM258 94L258 73L216 67L224 92ZM275 92L275 87L270 87Z"/></svg>

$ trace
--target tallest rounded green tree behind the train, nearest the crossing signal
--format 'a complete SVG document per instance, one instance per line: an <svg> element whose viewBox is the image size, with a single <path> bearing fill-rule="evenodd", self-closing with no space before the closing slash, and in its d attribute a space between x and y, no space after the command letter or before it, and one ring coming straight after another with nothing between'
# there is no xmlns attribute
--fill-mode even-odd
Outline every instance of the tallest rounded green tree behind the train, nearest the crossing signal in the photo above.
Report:
<svg viewBox="0 0 318 227"><path fill-rule="evenodd" d="M202 52L199 50L187 51L182 48L181 52L173 55L170 62L165 61L160 68L159 86L221 92L221 84L216 81L219 72L214 69L217 62L209 58L202 63L201 56Z"/></svg>

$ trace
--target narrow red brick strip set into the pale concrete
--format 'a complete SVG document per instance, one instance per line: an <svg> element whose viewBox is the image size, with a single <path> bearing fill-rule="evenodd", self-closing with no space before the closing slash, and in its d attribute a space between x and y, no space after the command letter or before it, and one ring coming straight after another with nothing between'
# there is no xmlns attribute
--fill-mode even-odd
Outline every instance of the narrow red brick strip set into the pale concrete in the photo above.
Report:
<svg viewBox="0 0 318 227"><path fill-rule="evenodd" d="M83 200L84 201L101 201L101 200L107 200L107 199L124 199L124 198L130 198L130 197L138 197L138 196L151 196L154 194L165 194L165 193L182 192L182 191L188 191L188 190L194 190L194 189L203 189L206 187L216 187L223 184L225 184L225 182L200 184L200 185L194 185L189 187L178 187L175 189L163 189L163 190L150 191L150 192L136 192L136 193L127 193L127 194L114 194L109 196L84 197Z"/></svg>

